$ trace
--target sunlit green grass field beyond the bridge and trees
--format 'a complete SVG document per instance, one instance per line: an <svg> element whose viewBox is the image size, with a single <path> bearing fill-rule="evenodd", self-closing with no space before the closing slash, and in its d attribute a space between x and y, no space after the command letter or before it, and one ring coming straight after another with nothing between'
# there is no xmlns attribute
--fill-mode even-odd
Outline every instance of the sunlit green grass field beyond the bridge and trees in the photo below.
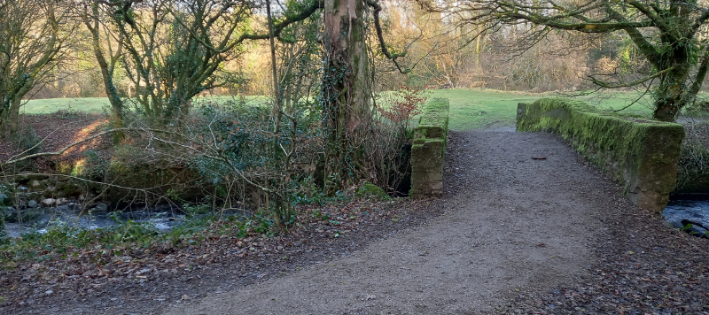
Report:
<svg viewBox="0 0 709 315"><path fill-rule="evenodd" d="M496 91L487 89L436 89L432 90L431 97L447 97L450 100L450 128L453 130L468 130L480 127L514 126L517 116L517 104L520 102L534 102L541 97L562 96L553 93L534 94L524 92ZM637 96L633 93L613 92L604 95L578 96L580 99L602 109L618 110L626 104L635 101ZM266 96L244 96L247 104L264 104L269 102ZM211 101L238 101L238 96L208 96L195 99L195 104L204 104ZM624 110L649 117L651 109L647 99L634 104ZM29 101L23 110L27 114L50 113L60 110L84 111L102 113L108 108L108 99L105 97L88 98L52 98Z"/></svg>

